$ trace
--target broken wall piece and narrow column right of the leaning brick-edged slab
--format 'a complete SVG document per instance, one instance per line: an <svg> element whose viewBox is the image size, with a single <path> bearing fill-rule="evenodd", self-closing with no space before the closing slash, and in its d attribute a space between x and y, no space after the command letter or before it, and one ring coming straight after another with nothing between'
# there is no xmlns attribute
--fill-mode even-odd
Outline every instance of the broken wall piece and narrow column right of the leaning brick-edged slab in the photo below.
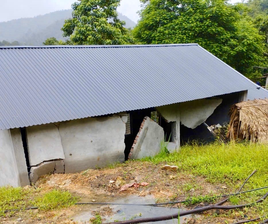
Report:
<svg viewBox="0 0 268 224"><path fill-rule="evenodd" d="M167 120L168 122L174 122L172 124L172 142L169 143L168 150L173 152L176 148L180 147L180 104L170 104L157 107L156 110Z"/></svg>

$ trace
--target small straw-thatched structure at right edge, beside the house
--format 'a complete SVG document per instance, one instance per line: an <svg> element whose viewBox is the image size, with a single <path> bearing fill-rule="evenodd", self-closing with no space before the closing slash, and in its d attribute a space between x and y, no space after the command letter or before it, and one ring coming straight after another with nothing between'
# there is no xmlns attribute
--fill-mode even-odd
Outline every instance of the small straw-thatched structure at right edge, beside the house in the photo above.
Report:
<svg viewBox="0 0 268 224"><path fill-rule="evenodd" d="M234 104L230 116L227 138L268 143L268 99Z"/></svg>

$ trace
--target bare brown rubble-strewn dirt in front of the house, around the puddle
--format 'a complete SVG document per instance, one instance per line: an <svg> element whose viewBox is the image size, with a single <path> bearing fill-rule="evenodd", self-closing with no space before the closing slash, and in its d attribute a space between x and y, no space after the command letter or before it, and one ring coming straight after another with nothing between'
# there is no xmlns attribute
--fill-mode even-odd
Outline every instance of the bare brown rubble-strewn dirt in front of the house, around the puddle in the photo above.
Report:
<svg viewBox="0 0 268 224"><path fill-rule="evenodd" d="M164 165L164 164L162 164ZM172 164L170 164L172 165ZM147 182L146 187L131 187L119 192L121 185L135 182ZM99 170L88 170L76 174L55 174L46 175L38 180L36 187L40 188L40 193L52 189L68 190L74 195L81 197L81 202L108 202L117 197L127 197L129 195L146 197L152 196L157 203L167 201L185 200L187 197L197 195L220 195L232 193L234 189L228 189L223 184L212 185L205 181L204 177L196 177L180 171L166 171L161 169L161 164L154 165L150 162L131 161L117 166L113 169L105 168ZM203 204L201 204L202 206ZM89 209L88 205L74 205L67 209L57 211L39 211L38 209L17 212L11 217L0 218L0 223L7 224L60 224L60 223L91 223L96 213L109 217L115 213L110 206L103 205L97 209ZM180 209L192 209L197 205L173 204L172 207ZM75 220L74 217L83 212L88 212L88 221ZM246 212L246 211L244 211ZM159 214L166 215L166 214ZM247 213L250 217L250 213ZM237 211L209 211L198 217L184 220L181 223L234 223L242 219ZM91 219L93 220L93 219ZM110 220L102 220L103 223ZM114 221L114 220L112 220ZM175 221L176 223L176 221Z"/></svg>

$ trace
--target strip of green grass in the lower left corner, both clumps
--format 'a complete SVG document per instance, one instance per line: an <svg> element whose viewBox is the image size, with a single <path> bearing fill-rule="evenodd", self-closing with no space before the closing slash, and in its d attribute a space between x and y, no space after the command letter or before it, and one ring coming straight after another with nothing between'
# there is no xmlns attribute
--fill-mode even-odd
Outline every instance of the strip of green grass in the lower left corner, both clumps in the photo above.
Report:
<svg viewBox="0 0 268 224"><path fill-rule="evenodd" d="M0 187L0 217L6 210L38 207L40 210L52 210L69 207L78 200L68 191L53 190L39 196L40 190L24 189L21 187ZM14 212L9 212L12 215Z"/></svg>

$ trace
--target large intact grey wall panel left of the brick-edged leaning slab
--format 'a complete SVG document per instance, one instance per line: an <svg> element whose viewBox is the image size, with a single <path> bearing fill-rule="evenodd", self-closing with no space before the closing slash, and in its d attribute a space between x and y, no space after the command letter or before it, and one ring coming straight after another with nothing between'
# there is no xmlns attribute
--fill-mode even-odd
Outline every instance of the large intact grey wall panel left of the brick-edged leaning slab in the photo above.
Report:
<svg viewBox="0 0 268 224"><path fill-rule="evenodd" d="M123 162L126 132L123 120L113 115L61 122L59 133L65 154L65 173Z"/></svg>

